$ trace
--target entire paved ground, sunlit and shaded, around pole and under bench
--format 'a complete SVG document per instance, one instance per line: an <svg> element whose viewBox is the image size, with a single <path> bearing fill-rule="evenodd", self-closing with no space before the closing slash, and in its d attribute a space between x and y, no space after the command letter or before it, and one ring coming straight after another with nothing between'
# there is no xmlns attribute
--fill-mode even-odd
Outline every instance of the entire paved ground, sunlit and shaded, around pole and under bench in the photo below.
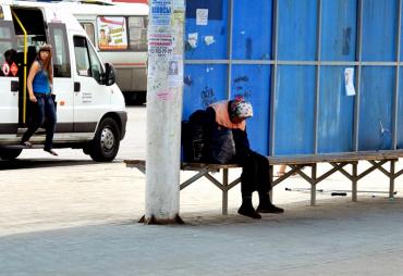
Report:
<svg viewBox="0 0 403 276"><path fill-rule="evenodd" d="M186 175L183 175L186 177ZM403 275L403 199L331 198L274 189L285 214L236 215L240 190L209 183L181 192L185 225L136 223L144 176L122 162L0 171L0 275ZM318 187L320 188L320 187ZM332 176L323 188L349 188ZM365 189L388 190L371 175ZM396 181L398 197L402 179Z"/></svg>

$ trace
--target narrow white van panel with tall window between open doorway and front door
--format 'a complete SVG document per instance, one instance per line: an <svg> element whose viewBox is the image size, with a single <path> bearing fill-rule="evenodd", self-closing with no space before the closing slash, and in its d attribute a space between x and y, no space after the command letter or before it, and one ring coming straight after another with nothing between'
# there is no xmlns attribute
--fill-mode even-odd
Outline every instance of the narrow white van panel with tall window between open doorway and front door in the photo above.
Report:
<svg viewBox="0 0 403 276"><path fill-rule="evenodd" d="M56 133L72 133L74 126L74 85L68 33L65 24L49 23L48 26L50 43L53 46L53 93L58 102Z"/></svg>

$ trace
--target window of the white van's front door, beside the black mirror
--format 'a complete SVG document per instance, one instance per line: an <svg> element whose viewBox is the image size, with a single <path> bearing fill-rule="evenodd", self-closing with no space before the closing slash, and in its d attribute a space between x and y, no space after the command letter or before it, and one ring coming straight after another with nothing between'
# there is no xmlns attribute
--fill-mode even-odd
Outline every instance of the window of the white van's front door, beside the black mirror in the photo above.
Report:
<svg viewBox="0 0 403 276"><path fill-rule="evenodd" d="M101 63L85 37L74 37L74 55L77 74L94 77L98 83L101 83L103 73Z"/></svg>

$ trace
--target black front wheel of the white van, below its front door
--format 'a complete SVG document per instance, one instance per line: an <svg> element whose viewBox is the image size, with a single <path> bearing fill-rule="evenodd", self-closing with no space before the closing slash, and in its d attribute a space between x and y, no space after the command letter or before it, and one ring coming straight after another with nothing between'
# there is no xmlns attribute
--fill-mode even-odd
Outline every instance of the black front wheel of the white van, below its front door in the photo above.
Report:
<svg viewBox="0 0 403 276"><path fill-rule="evenodd" d="M90 145L89 155L94 161L112 161L119 151L120 130L113 118L106 117L99 124Z"/></svg>

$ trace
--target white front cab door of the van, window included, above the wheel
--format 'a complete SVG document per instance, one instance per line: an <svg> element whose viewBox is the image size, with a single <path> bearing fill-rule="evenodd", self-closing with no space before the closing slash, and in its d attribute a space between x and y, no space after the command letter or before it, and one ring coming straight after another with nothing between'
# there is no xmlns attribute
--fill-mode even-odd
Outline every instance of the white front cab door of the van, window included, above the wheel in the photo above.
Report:
<svg viewBox="0 0 403 276"><path fill-rule="evenodd" d="M103 66L88 39L75 35L73 45L74 131L94 133L97 123L109 110L113 90L103 84Z"/></svg>

